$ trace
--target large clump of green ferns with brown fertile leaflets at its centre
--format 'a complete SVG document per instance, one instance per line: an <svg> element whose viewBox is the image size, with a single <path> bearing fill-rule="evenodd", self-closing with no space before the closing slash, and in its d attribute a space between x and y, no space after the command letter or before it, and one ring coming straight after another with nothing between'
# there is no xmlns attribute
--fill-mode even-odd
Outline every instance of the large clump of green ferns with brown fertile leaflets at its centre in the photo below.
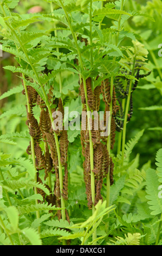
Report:
<svg viewBox="0 0 162 256"><path fill-rule="evenodd" d="M125 0L39 4L0 1L0 42L14 56L3 72L17 79L0 96L0 243L158 245L161 151L156 173L132 159L144 130L126 142L138 83L152 76L150 49L128 23L154 20ZM66 108L85 119L77 126ZM108 131L94 112L103 126L110 112Z"/></svg>

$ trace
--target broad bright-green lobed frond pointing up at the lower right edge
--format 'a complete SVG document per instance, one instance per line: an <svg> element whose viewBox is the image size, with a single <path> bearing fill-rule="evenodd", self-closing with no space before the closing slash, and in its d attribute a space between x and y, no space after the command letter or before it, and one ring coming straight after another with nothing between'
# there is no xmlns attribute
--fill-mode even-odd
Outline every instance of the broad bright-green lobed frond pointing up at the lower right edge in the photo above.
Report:
<svg viewBox="0 0 162 256"><path fill-rule="evenodd" d="M158 196L158 175L154 169L149 168L146 172L146 193L148 196L149 209L152 210L151 215L158 215L162 212L162 200Z"/></svg>

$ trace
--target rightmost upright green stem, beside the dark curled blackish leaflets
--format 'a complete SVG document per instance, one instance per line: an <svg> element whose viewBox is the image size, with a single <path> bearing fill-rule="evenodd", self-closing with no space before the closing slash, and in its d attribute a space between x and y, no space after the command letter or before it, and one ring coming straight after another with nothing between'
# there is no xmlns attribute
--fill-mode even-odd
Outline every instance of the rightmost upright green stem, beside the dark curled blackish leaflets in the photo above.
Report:
<svg viewBox="0 0 162 256"><path fill-rule="evenodd" d="M135 59L136 59L136 56L134 57L132 76L134 75ZM126 143L126 127L127 127L127 118L128 118L128 111L129 111L130 95L131 95L131 91L132 91L132 82L133 82L133 80L131 79L130 84L129 84L126 111L125 111L125 115L124 115L123 137L122 137L122 165L123 165L123 162L124 162L124 149L125 149L125 143Z"/></svg>

